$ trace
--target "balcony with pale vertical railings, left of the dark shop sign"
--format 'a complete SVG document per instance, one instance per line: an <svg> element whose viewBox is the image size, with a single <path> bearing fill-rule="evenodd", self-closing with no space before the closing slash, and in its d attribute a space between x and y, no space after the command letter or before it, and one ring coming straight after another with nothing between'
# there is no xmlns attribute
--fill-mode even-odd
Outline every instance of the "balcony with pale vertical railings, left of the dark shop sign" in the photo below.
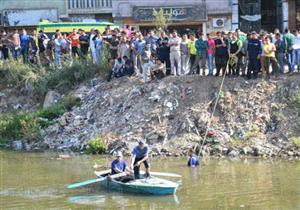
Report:
<svg viewBox="0 0 300 210"><path fill-rule="evenodd" d="M112 0L67 0L68 14L112 13Z"/></svg>

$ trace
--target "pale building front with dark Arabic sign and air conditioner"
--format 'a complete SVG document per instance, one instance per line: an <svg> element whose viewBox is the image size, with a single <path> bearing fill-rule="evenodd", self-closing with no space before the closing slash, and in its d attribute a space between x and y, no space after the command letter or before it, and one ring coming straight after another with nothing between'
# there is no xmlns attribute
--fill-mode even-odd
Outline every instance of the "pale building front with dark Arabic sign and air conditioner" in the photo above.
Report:
<svg viewBox="0 0 300 210"><path fill-rule="evenodd" d="M171 14L169 29L212 31L231 28L229 0L114 0L113 19L120 24L154 28L153 10Z"/></svg>

